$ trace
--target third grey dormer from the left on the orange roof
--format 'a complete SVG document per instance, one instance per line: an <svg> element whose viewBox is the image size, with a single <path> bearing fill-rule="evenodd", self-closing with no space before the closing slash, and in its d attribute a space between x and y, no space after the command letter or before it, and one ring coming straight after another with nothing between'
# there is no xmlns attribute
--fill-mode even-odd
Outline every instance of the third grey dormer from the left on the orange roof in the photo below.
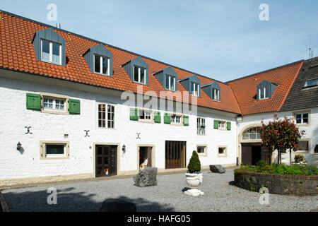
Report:
<svg viewBox="0 0 318 226"><path fill-rule="evenodd" d="M124 70L134 83L149 85L148 64L141 57L136 57L123 65Z"/></svg>

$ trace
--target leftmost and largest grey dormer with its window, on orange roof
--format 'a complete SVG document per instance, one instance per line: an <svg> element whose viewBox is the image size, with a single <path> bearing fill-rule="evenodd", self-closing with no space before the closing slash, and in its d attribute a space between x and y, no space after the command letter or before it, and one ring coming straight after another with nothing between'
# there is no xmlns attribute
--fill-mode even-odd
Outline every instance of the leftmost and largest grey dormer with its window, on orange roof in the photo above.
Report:
<svg viewBox="0 0 318 226"><path fill-rule="evenodd" d="M33 47L38 61L66 66L66 41L52 28L37 30Z"/></svg>

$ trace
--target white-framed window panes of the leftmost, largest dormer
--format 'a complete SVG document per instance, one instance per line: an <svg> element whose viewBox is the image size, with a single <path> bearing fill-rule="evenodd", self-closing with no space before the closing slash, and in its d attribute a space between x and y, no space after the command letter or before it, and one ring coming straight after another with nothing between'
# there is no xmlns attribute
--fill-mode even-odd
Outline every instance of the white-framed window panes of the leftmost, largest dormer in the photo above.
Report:
<svg viewBox="0 0 318 226"><path fill-rule="evenodd" d="M41 40L42 61L61 64L61 44Z"/></svg>

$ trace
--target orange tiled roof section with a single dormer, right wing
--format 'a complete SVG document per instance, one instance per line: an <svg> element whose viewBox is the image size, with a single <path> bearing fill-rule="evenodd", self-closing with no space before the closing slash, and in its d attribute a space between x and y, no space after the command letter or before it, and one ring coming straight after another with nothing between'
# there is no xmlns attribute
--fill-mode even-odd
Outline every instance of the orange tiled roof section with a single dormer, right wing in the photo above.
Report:
<svg viewBox="0 0 318 226"><path fill-rule="evenodd" d="M281 109L291 85L293 85L300 71L302 62L303 61L297 61L276 69L255 73L251 76L228 82L240 105L242 114L277 112ZM279 85L270 99L257 100L257 85L264 80Z"/></svg>

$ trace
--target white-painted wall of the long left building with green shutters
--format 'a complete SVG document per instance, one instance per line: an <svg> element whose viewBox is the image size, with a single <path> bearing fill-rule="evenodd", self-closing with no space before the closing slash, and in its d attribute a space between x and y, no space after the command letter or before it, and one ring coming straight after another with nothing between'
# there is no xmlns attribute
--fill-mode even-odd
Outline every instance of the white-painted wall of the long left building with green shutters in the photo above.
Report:
<svg viewBox="0 0 318 226"><path fill-rule="evenodd" d="M27 75L26 75L27 76ZM47 114L26 109L26 93L52 93L81 100L80 115ZM208 155L200 157L201 165L236 164L236 122L234 117L221 113L199 112L206 117L206 136L196 135L196 115L189 115L189 126L147 124L129 120L129 106L107 95L59 88L26 81L0 78L0 179L47 177L93 173L93 143L120 143L120 171L137 170L137 145L155 145L155 167L165 168L165 141L187 141L187 162L196 145L208 145ZM110 95L109 95L110 94ZM115 129L98 129L98 102L115 104ZM232 122L231 131L213 129L214 119ZM25 126L33 133L25 134ZM84 137L90 130L90 137ZM141 133L136 139L136 133ZM69 134L69 138L64 138ZM69 141L68 160L40 160L40 141ZM24 152L16 145L20 142ZM122 152L126 145L126 152ZM218 145L227 145L227 157L217 157Z"/></svg>

